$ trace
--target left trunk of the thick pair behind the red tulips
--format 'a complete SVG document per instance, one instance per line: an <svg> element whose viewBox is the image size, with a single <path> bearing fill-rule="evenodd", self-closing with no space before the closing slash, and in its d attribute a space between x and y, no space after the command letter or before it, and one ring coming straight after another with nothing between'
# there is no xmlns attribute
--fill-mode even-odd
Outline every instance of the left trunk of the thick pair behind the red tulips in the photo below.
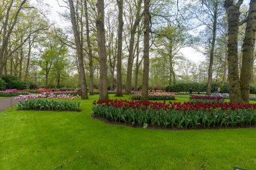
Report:
<svg viewBox="0 0 256 170"><path fill-rule="evenodd" d="M224 7L228 14L228 81L230 86L230 102L243 103L240 89L240 79L238 75L238 26L240 16L240 6L243 0L239 0L235 5L233 0L226 0Z"/></svg>

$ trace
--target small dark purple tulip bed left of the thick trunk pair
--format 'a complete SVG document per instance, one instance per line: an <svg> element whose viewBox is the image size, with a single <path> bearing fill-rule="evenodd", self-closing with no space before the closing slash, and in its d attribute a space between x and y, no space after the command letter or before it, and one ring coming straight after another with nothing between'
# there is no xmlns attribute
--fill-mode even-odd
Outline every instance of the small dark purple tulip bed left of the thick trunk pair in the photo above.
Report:
<svg viewBox="0 0 256 170"><path fill-rule="evenodd" d="M189 100L193 103L196 102L212 102L212 103L224 103L224 98L220 96L210 96L210 95L192 95Z"/></svg>

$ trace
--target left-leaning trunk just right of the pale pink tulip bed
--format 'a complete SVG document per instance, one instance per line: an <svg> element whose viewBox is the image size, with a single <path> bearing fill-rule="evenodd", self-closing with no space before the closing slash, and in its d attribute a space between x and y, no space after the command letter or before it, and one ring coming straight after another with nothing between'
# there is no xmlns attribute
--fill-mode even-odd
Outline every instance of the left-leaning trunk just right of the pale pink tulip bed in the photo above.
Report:
<svg viewBox="0 0 256 170"><path fill-rule="evenodd" d="M71 23L73 28L73 35L75 37L75 46L77 52L77 59L79 65L79 77L80 77L80 86L82 92L82 99L88 99L87 87L86 87L86 73L84 72L84 54L83 54L83 46L81 45L82 37L79 36L79 32L77 30L77 22L75 19L75 8L73 5L73 0L69 0L69 9L71 15Z"/></svg>

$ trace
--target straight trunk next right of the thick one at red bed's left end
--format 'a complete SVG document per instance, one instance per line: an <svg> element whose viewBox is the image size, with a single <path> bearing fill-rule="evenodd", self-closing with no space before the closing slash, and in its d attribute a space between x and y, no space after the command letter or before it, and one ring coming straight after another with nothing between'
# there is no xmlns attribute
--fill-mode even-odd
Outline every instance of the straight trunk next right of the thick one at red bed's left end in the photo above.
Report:
<svg viewBox="0 0 256 170"><path fill-rule="evenodd" d="M122 46L123 46L123 0L118 0L119 7L118 15L118 42L117 42L117 97L123 96L122 87Z"/></svg>

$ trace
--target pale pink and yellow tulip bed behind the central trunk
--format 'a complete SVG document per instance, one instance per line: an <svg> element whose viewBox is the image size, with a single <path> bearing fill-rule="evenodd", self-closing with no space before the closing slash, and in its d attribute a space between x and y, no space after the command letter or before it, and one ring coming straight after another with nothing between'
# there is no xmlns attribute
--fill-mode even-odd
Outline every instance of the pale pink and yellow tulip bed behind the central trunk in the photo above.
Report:
<svg viewBox="0 0 256 170"><path fill-rule="evenodd" d="M148 93L148 97L150 100L174 100L175 96L170 92L150 92ZM141 93L135 93L131 95L131 99L140 100Z"/></svg>

